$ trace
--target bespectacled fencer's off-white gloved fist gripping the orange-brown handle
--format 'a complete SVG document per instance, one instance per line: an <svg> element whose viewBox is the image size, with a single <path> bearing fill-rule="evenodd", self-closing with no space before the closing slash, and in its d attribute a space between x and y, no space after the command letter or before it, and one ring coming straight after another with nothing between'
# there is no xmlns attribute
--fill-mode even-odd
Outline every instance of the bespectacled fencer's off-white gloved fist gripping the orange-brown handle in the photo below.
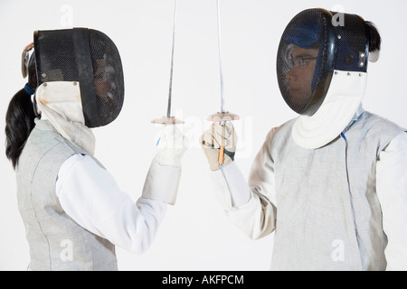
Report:
<svg viewBox="0 0 407 289"><path fill-rule="evenodd" d="M237 135L230 122L213 122L201 136L201 145L212 171L217 171L220 165L232 163L236 152Z"/></svg>

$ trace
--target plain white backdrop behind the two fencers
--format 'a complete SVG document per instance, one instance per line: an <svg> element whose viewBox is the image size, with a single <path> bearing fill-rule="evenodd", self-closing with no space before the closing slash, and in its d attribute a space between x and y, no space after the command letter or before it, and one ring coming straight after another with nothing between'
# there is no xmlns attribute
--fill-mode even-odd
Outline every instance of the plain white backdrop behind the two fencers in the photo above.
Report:
<svg viewBox="0 0 407 289"><path fill-rule="evenodd" d="M383 37L381 59L369 65L364 108L407 127L405 11L407 1L220 0L226 108L241 116L236 163L247 177L272 126L296 117L280 97L275 73L279 37L289 20L311 7L344 9L374 22ZM2 66L0 127L5 111L24 87L24 46L34 30L97 29L117 44L125 71L126 98L118 119L94 129L96 157L122 191L137 200L159 127L166 115L173 0L0 0ZM178 198L167 211L150 249L142 256L117 248L120 270L268 270L272 235L251 240L226 219L215 199L208 163L198 138L205 117L220 109L215 0L178 0L173 80L173 115L185 120L190 149L183 159ZM4 152L4 151L3 151ZM24 224L16 202L15 174L0 154L0 270L25 270L29 263Z"/></svg>

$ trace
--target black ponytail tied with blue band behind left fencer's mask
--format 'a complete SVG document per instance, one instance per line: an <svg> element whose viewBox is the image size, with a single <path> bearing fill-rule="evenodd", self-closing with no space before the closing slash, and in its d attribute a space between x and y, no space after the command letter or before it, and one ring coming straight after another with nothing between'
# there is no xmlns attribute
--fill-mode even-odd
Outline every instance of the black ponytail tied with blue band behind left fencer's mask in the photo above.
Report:
<svg viewBox="0 0 407 289"><path fill-rule="evenodd" d="M35 89L37 87L35 61L30 62L28 86ZM13 163L14 169L24 149L25 142L35 126L34 118L31 95L25 89L21 89L10 100L5 115L5 155Z"/></svg>

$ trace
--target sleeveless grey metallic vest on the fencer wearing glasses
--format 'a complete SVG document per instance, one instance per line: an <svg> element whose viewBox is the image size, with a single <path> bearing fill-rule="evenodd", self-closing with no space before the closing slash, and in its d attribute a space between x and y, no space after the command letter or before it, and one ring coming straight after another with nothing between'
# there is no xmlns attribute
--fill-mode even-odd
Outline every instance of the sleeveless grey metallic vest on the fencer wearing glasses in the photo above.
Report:
<svg viewBox="0 0 407 289"><path fill-rule="evenodd" d="M382 211L376 196L380 152L403 130L364 112L318 149L291 137L294 121L273 135L277 223L273 270L384 270Z"/></svg>

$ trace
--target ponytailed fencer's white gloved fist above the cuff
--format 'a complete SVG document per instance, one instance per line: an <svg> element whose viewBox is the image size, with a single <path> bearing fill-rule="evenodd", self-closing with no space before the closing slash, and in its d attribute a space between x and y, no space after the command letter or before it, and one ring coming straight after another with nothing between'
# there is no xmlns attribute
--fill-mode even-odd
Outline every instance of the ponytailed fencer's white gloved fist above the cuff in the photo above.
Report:
<svg viewBox="0 0 407 289"><path fill-rule="evenodd" d="M156 144L156 162L180 168L187 145L187 138L176 125L164 126Z"/></svg>

